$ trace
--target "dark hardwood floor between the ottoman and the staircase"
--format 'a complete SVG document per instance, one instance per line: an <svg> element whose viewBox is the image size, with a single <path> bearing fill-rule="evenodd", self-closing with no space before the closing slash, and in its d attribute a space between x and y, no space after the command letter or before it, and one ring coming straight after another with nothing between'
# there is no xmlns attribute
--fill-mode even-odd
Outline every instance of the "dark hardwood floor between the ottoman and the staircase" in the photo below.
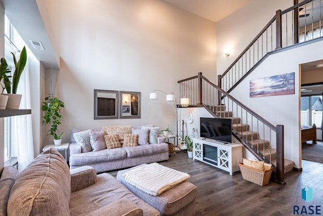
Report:
<svg viewBox="0 0 323 216"><path fill-rule="evenodd" d="M165 166L187 172L188 180L197 186L196 215L293 215L293 206L320 205L323 214L323 164L303 160L303 171L290 171L285 175L286 185L270 182L259 186L242 179L241 173L214 168L187 157L187 153L170 155ZM116 177L118 171L109 172ZM301 189L313 189L313 199L302 200ZM309 212L309 211L308 211ZM315 215L315 214L314 214Z"/></svg>

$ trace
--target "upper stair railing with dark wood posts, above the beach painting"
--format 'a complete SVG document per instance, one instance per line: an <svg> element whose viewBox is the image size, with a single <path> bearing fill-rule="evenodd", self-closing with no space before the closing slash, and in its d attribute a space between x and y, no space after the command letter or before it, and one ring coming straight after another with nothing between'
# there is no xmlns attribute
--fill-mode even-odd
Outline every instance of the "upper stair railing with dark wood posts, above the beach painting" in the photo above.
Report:
<svg viewBox="0 0 323 216"><path fill-rule="evenodd" d="M230 93L275 51L323 36L322 7L322 0L306 0L285 11L278 10L229 68L218 76L218 86Z"/></svg>

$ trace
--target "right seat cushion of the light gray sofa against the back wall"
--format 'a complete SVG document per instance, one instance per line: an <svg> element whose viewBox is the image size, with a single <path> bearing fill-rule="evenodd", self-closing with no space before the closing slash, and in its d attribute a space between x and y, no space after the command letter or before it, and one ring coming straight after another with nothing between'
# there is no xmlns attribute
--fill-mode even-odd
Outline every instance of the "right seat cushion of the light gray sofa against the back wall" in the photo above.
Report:
<svg viewBox="0 0 323 216"><path fill-rule="evenodd" d="M122 147L127 151L127 157L141 157L143 155L153 155L161 152L168 152L168 144L151 144L136 147Z"/></svg>

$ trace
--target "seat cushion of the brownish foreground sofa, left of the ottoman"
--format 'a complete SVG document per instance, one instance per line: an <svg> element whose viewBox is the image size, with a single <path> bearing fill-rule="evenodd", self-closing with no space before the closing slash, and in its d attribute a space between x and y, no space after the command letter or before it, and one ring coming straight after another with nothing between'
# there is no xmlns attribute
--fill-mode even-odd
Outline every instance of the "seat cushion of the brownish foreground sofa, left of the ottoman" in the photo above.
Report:
<svg viewBox="0 0 323 216"><path fill-rule="evenodd" d="M124 198L141 208L143 215L160 215L155 208L139 199L116 178L107 173L97 175L97 182L95 184L71 194L70 212L72 216L87 215L87 212L93 212L113 202L118 205L118 202L115 201ZM103 212L102 215L111 215L107 213L104 214Z"/></svg>

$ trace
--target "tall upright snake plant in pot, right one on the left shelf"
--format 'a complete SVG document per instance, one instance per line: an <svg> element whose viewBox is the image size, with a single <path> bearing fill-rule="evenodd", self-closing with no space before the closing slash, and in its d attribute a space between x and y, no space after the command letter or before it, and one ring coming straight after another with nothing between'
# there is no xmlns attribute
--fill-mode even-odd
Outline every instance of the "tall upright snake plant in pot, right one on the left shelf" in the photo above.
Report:
<svg viewBox="0 0 323 216"><path fill-rule="evenodd" d="M20 101L21 101L21 96L17 94L17 89L18 89L18 83L20 80L20 76L22 72L25 69L25 65L27 62L27 51L26 48L23 47L23 49L20 52L19 60L17 62L16 56L14 53L11 53L13 55L13 60L15 64L15 71L12 76L12 82L10 82L9 77L10 76L5 76L4 77L4 84L5 84L5 89L7 91L9 96L8 103L7 103L7 109L19 109Z"/></svg>

